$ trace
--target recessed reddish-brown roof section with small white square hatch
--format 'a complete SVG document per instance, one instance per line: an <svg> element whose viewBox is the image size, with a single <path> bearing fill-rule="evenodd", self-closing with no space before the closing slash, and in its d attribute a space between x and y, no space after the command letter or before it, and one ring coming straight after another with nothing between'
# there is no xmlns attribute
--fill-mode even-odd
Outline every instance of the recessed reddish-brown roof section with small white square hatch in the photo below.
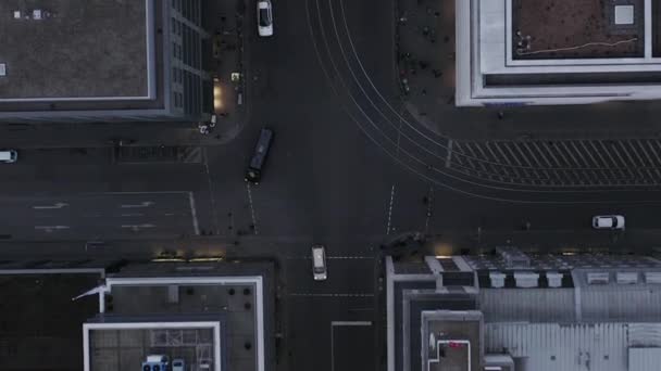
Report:
<svg viewBox="0 0 661 371"><path fill-rule="evenodd" d="M643 0L513 0L514 60L641 57Z"/></svg>

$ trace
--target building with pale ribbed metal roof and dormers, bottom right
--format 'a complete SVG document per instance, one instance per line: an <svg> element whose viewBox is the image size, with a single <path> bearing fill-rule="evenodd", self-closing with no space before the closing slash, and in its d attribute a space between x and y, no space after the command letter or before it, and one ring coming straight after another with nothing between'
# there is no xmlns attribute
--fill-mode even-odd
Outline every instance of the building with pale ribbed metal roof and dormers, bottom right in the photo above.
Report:
<svg viewBox="0 0 661 371"><path fill-rule="evenodd" d="M640 371L661 361L657 258L499 247L427 256L426 274L397 264L386 258L389 371Z"/></svg>

